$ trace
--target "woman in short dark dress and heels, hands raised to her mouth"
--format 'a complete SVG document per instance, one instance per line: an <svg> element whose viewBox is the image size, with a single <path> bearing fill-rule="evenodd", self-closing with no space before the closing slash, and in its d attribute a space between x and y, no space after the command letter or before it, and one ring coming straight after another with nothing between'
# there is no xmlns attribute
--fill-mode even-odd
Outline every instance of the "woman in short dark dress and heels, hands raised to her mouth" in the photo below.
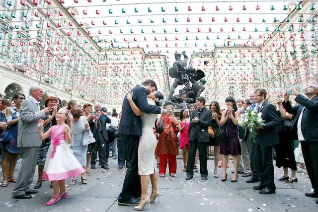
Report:
<svg viewBox="0 0 318 212"><path fill-rule="evenodd" d="M222 112L221 125L225 127L226 139L221 140L220 153L223 155L223 176L222 181L227 180L227 163L228 155L233 156L234 163L234 176L231 182L236 182L238 180L238 167L239 167L239 132L238 132L238 118L240 116L240 111L233 97L228 97L225 100L228 110Z"/></svg>

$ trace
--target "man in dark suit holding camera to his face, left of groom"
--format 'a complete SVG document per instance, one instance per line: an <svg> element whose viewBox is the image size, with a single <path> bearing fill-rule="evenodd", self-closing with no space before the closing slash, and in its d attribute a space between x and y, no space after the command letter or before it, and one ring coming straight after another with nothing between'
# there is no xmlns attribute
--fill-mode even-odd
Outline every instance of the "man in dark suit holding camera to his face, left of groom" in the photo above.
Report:
<svg viewBox="0 0 318 212"><path fill-rule="evenodd" d="M95 122L95 127L97 131L97 141L98 141L98 158L102 169L108 168L108 157L109 157L109 139L106 124L111 123L111 119L107 116L107 109L105 107L101 108L101 115L99 116L97 122Z"/></svg>

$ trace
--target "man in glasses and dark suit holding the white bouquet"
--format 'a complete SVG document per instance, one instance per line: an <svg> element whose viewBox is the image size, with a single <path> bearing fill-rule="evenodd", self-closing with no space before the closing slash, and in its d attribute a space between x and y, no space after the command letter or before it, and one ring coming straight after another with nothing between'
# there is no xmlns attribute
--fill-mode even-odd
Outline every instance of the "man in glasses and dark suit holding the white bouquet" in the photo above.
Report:
<svg viewBox="0 0 318 212"><path fill-rule="evenodd" d="M260 181L253 189L260 190L259 194L274 194L276 186L274 183L274 166L272 159L273 146L278 144L279 117L276 108L265 101L267 91L257 88L254 91L254 98L257 102L257 113L262 113L261 118L265 120L263 125L257 127L258 135L254 146L254 162L256 173Z"/></svg>

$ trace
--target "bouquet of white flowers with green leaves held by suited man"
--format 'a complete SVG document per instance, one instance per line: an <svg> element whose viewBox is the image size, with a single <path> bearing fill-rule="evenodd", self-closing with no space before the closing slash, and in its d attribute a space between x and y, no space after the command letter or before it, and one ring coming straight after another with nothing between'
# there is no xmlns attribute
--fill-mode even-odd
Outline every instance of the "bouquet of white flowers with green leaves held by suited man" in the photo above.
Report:
<svg viewBox="0 0 318 212"><path fill-rule="evenodd" d="M239 126L248 128L253 135L253 142L256 141L258 129L257 127L265 123L265 120L261 118L262 113L257 113L257 109L251 111L250 108L246 108L247 113L240 115L238 119Z"/></svg>

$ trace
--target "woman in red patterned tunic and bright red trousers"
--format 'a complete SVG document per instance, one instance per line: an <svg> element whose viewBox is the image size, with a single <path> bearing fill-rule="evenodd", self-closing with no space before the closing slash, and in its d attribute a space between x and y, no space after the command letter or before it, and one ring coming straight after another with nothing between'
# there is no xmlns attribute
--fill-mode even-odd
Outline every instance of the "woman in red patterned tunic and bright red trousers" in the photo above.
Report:
<svg viewBox="0 0 318 212"><path fill-rule="evenodd" d="M169 160L169 174L175 177L177 171L178 142L177 142L177 125L178 121L173 115L173 106L165 107L166 115L160 116L157 126L163 121L163 131L159 135L159 141L155 154L159 157L159 177L164 177Z"/></svg>

